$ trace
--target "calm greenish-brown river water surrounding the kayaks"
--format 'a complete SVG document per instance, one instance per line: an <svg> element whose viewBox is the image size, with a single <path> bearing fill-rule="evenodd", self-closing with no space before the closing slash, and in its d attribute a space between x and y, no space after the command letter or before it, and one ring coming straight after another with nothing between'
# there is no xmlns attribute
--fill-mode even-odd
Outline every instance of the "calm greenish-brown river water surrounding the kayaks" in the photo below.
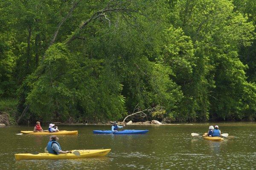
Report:
<svg viewBox="0 0 256 170"><path fill-rule="evenodd" d="M62 160L15 160L15 153L44 152L49 135L15 135L27 126L0 127L1 170L173 170L173 169L256 169L256 123L218 123L222 133L235 138L221 142L193 138L211 124L127 125L125 129L149 130L145 135L97 135L110 125L58 125L60 130L78 130L78 136L60 135L63 150L105 149L98 158ZM215 124L213 124L215 125ZM47 126L42 125L44 130Z"/></svg>

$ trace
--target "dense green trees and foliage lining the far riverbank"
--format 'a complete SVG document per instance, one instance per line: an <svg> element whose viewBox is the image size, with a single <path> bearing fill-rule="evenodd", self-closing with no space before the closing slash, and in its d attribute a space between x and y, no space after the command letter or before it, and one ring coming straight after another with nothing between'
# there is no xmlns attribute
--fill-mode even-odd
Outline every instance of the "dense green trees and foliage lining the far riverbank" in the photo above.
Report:
<svg viewBox="0 0 256 170"><path fill-rule="evenodd" d="M136 106L166 122L256 118L253 0L5 0L0 15L0 97L23 122Z"/></svg>

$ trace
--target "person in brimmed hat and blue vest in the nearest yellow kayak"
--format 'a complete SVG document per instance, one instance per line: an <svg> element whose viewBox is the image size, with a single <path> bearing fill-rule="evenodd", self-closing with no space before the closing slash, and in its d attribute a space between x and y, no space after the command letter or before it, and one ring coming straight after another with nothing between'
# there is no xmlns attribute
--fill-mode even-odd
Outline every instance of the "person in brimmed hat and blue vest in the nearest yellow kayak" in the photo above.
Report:
<svg viewBox="0 0 256 170"><path fill-rule="evenodd" d="M50 141L47 144L47 150L48 153L53 153L53 154L60 154L60 153L70 153L70 151L62 151L61 150L61 145L57 142L58 137L56 135L52 135L50 137Z"/></svg>

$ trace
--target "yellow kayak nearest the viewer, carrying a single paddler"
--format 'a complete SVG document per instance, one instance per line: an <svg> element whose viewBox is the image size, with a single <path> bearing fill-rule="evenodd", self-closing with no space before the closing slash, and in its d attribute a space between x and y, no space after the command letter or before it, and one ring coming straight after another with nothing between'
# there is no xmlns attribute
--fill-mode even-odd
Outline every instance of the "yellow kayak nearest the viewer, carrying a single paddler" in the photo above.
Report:
<svg viewBox="0 0 256 170"><path fill-rule="evenodd" d="M52 153L17 153L15 154L16 160L22 159L73 159L73 158L90 158L90 157L99 157L107 155L111 149L101 149L101 150L71 150L79 151L80 156L75 155L74 153L63 153L63 154L52 154Z"/></svg>

